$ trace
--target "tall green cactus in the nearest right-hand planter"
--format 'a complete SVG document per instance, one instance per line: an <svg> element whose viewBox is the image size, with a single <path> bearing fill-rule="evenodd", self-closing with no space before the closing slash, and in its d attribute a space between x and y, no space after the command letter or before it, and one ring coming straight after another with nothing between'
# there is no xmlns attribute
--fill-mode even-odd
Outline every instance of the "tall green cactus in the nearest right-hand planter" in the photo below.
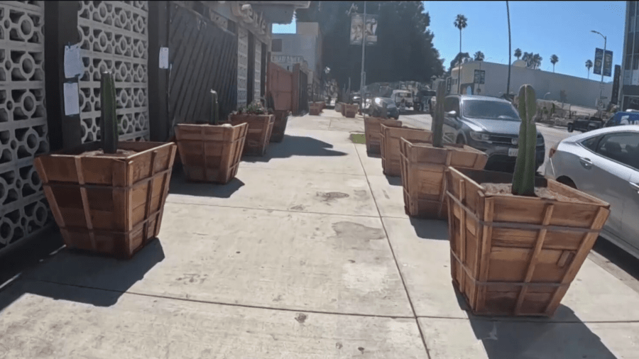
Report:
<svg viewBox="0 0 639 359"><path fill-rule="evenodd" d="M513 175L513 191L518 196L535 196L535 147L537 126L532 118L537 113L535 89L529 84L519 89L519 152Z"/></svg>

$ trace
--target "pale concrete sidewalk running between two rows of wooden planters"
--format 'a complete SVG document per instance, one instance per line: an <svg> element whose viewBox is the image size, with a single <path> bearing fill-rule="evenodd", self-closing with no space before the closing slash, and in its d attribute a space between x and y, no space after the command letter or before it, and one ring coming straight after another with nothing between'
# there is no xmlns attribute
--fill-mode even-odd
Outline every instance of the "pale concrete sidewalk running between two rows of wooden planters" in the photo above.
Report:
<svg viewBox="0 0 639 359"><path fill-rule="evenodd" d="M639 294L586 260L553 319L469 315L445 221L349 140L291 118L225 186L173 174L132 260L53 255L0 291L0 358L637 358Z"/></svg>

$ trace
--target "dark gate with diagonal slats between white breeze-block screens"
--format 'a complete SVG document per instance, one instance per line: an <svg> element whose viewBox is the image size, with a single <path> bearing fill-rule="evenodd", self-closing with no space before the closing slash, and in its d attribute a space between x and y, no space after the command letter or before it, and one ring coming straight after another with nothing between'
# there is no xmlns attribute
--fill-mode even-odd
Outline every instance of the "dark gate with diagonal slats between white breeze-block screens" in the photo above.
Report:
<svg viewBox="0 0 639 359"><path fill-rule="evenodd" d="M176 4L170 18L169 120L210 118L211 89L218 94L220 118L226 118L239 94L236 35Z"/></svg>

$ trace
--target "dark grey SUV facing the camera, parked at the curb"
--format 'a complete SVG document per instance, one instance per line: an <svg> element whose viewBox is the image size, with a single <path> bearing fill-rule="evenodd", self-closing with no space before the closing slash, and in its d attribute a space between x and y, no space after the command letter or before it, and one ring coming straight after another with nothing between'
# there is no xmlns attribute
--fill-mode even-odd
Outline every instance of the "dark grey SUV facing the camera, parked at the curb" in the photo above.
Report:
<svg viewBox="0 0 639 359"><path fill-rule="evenodd" d="M518 153L521 118L505 99L450 95L444 99L444 141L465 143L488 155L486 170L513 172ZM537 131L535 160L544 163L545 143Z"/></svg>

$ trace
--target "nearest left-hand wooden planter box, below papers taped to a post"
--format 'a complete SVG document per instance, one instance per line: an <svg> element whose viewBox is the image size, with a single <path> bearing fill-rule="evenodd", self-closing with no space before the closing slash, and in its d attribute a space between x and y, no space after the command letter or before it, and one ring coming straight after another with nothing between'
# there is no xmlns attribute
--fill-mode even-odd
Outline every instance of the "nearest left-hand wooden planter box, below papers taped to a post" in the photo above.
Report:
<svg viewBox="0 0 639 359"><path fill-rule="evenodd" d="M35 169L68 248L131 258L160 232L175 143L121 142L104 155L93 142L35 158Z"/></svg>

